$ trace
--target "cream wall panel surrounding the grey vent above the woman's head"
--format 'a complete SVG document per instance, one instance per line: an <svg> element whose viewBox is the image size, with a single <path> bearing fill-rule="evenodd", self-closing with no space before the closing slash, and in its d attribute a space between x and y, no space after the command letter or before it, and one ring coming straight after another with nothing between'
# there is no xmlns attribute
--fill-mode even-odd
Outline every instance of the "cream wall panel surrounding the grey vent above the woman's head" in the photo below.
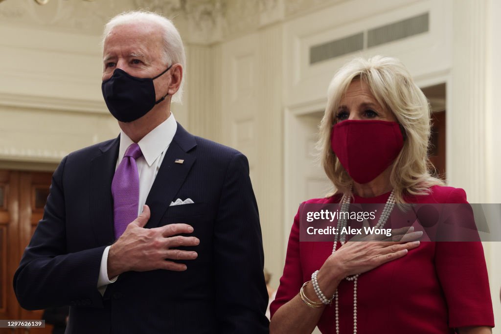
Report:
<svg viewBox="0 0 501 334"><path fill-rule="evenodd" d="M377 3L352 0L288 21L284 29L288 55L284 59L286 105L296 108L305 103L325 101L327 86L334 73L357 55L397 57L418 78L450 70L451 6L447 0L384 0ZM309 63L312 46L426 12L430 13L428 33L313 65Z"/></svg>

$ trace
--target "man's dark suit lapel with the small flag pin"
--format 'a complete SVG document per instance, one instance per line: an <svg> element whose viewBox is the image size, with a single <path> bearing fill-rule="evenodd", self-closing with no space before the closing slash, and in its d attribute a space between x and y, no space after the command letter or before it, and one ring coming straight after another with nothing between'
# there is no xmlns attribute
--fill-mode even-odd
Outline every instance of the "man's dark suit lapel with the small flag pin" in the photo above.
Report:
<svg viewBox="0 0 501 334"><path fill-rule="evenodd" d="M174 200L174 196L181 188L196 160L194 153L189 152L195 146L194 136L184 130L178 123L176 134L167 152L165 152L162 165L146 199L146 205L150 208L151 216L145 227L153 228L158 226L160 218L167 211L170 202ZM175 163L176 159L184 161L183 163Z"/></svg>

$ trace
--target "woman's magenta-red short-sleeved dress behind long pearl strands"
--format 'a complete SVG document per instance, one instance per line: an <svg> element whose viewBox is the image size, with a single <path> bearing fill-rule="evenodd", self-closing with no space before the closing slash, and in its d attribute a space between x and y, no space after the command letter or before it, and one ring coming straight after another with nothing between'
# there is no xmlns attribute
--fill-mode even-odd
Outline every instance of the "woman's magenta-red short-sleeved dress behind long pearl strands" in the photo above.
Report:
<svg viewBox="0 0 501 334"><path fill-rule="evenodd" d="M467 203L464 190L433 186L409 203ZM390 193L354 196L353 203L385 203ZM340 195L307 203L339 203ZM391 227L391 226L385 226ZM299 214L294 219L284 273L271 314L299 293L332 253L333 242L299 242ZM353 333L353 282L338 287L340 332ZM480 242L421 242L404 257L358 278L358 333L448 334L463 326L494 326L487 268ZM324 334L335 333L334 305L318 322Z"/></svg>

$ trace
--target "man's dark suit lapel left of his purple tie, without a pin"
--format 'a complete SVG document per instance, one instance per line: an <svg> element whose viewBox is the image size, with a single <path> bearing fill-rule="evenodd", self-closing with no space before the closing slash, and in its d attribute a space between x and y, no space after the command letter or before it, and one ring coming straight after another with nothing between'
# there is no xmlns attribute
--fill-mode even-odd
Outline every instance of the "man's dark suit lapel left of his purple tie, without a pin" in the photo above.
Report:
<svg viewBox="0 0 501 334"><path fill-rule="evenodd" d="M115 241L111 182L115 174L120 137L104 144L101 154L91 161L91 224L99 245Z"/></svg>

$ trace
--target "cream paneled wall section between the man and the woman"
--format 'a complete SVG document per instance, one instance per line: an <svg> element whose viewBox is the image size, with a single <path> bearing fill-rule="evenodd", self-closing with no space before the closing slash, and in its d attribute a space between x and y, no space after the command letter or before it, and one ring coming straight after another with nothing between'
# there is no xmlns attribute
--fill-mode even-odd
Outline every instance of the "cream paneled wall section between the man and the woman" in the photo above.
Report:
<svg viewBox="0 0 501 334"><path fill-rule="evenodd" d="M283 269L282 27L222 45L222 142L243 152L258 200L265 265Z"/></svg>

